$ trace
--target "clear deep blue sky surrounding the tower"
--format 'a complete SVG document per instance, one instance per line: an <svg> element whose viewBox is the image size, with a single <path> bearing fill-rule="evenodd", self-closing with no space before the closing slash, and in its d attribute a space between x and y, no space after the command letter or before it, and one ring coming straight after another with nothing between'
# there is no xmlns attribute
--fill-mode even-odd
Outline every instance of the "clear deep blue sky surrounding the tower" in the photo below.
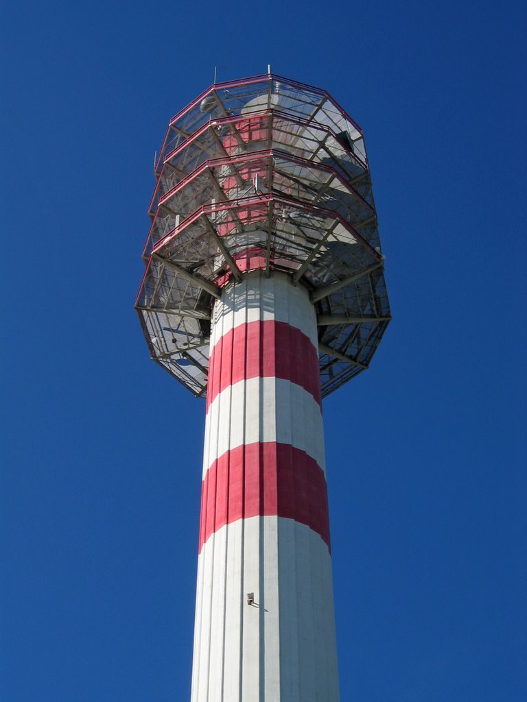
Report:
<svg viewBox="0 0 527 702"><path fill-rule="evenodd" d="M188 701L204 403L133 310L167 121L219 79L364 131L393 322L325 401L342 701L523 702L520 2L7 0L6 702Z"/></svg>

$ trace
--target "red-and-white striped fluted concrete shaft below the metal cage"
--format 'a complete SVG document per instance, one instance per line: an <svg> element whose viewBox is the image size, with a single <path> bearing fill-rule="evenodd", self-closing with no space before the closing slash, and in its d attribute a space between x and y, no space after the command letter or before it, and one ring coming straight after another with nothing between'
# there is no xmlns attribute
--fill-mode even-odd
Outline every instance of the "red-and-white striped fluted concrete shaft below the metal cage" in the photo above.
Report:
<svg viewBox="0 0 527 702"><path fill-rule="evenodd" d="M246 274L216 302L210 352L192 702L337 702L308 292Z"/></svg>

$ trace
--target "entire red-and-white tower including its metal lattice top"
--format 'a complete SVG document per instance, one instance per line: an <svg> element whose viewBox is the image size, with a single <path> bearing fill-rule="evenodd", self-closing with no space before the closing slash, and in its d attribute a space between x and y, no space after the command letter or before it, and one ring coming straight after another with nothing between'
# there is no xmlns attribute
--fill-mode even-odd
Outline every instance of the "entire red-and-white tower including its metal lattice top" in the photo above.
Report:
<svg viewBox="0 0 527 702"><path fill-rule="evenodd" d="M358 125L273 74L171 119L136 300L206 401L192 702L339 699L322 398L390 319Z"/></svg>

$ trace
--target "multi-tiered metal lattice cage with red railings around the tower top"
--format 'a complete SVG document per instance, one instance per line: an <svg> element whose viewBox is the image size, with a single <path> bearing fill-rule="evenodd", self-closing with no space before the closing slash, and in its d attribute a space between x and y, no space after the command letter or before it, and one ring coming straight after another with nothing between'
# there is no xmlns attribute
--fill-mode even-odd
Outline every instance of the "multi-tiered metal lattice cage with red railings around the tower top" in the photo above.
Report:
<svg viewBox="0 0 527 702"><path fill-rule="evenodd" d="M363 133L275 74L214 84L171 119L136 300L152 359L207 392L212 305L252 271L315 307L322 396L367 369L391 319Z"/></svg>

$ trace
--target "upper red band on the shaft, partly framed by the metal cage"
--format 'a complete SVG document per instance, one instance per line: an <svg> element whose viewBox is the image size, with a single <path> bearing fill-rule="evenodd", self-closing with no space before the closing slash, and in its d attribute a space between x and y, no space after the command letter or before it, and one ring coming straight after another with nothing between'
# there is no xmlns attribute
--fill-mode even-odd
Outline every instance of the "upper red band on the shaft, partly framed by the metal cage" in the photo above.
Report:
<svg viewBox="0 0 527 702"><path fill-rule="evenodd" d="M322 402L318 352L306 334L287 322L256 320L223 334L209 361L207 411L216 395L249 378L290 380Z"/></svg>

